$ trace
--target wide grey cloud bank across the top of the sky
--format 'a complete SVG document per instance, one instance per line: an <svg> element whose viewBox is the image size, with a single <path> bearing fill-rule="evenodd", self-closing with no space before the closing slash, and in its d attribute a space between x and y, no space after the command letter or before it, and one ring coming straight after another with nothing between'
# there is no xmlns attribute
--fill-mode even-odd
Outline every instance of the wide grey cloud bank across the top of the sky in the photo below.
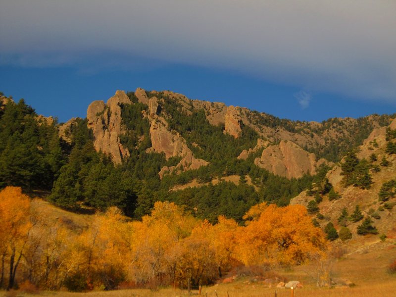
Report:
<svg viewBox="0 0 396 297"><path fill-rule="evenodd" d="M395 28L394 0L1 1L0 64L178 63L396 103Z"/></svg>

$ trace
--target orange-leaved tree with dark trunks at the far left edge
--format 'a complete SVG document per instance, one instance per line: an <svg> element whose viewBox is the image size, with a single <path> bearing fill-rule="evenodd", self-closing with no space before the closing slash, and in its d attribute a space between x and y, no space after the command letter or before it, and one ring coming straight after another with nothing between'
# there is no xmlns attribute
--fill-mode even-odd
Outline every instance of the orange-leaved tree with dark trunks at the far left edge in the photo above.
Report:
<svg viewBox="0 0 396 297"><path fill-rule="evenodd" d="M7 290L14 286L15 276L25 251L32 224L29 218L30 200L18 187L6 187L0 192L1 279L8 267Z"/></svg>

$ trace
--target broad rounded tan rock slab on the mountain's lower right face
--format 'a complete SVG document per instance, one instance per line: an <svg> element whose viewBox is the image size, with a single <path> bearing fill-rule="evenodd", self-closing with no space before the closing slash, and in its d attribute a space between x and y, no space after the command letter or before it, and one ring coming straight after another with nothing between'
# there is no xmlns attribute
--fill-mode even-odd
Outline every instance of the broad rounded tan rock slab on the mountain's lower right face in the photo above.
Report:
<svg viewBox="0 0 396 297"><path fill-rule="evenodd" d="M314 153L309 153L291 141L281 141L279 145L269 146L254 164L276 175L299 178L305 173L315 174L316 167L325 160L315 161Z"/></svg>

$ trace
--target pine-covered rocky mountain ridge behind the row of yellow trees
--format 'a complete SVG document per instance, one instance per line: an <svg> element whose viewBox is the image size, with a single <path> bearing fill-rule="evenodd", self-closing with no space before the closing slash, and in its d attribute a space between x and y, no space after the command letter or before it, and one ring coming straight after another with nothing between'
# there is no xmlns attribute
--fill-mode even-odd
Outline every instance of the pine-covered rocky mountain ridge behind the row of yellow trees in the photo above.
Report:
<svg viewBox="0 0 396 297"><path fill-rule="evenodd" d="M1 93L0 189L47 191L72 210L117 206L137 219L155 201L173 201L210 222L220 214L242 222L254 204L287 205L312 191L393 117L300 122L137 89L59 124Z"/></svg>

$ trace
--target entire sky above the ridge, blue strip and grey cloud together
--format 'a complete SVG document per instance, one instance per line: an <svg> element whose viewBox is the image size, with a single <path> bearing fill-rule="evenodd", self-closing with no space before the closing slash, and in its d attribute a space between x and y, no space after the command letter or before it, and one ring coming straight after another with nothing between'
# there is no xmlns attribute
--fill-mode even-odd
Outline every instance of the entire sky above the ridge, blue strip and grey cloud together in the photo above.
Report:
<svg viewBox="0 0 396 297"><path fill-rule="evenodd" d="M137 87L294 120L395 113L393 28L386 0L1 1L0 91L60 122Z"/></svg>

